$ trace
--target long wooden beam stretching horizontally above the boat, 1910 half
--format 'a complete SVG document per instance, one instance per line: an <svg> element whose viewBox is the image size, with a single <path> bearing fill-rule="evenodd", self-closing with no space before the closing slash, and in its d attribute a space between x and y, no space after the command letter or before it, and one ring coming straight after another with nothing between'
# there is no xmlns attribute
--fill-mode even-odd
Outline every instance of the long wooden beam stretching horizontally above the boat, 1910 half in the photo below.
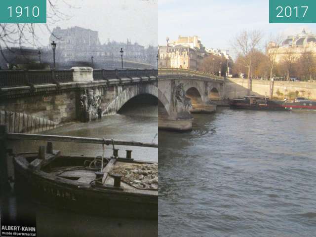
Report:
<svg viewBox="0 0 316 237"><path fill-rule="evenodd" d="M55 142L78 142L78 143L93 143L93 144L107 144L107 145L114 144L114 145L122 145L122 146L158 148L158 144L155 144L155 143L111 140L111 139L91 138L91 137L59 136L59 135L8 133L7 139L9 139L9 140L55 141Z"/></svg>

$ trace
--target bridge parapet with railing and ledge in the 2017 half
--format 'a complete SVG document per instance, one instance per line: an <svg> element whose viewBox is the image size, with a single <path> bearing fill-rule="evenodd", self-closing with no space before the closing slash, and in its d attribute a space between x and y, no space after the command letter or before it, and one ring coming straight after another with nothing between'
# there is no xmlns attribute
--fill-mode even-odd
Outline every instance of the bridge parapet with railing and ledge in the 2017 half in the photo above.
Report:
<svg viewBox="0 0 316 237"><path fill-rule="evenodd" d="M161 79L164 77L195 77L219 82L225 81L224 77L182 68L158 68L158 76Z"/></svg>

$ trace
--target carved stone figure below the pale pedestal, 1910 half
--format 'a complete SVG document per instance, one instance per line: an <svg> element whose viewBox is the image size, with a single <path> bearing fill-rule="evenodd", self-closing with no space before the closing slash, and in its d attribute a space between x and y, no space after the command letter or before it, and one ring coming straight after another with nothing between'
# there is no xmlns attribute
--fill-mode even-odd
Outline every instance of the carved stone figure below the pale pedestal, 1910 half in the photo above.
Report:
<svg viewBox="0 0 316 237"><path fill-rule="evenodd" d="M87 122L99 118L100 108L101 96L96 95L93 90L84 90L84 93L80 95L81 120Z"/></svg>

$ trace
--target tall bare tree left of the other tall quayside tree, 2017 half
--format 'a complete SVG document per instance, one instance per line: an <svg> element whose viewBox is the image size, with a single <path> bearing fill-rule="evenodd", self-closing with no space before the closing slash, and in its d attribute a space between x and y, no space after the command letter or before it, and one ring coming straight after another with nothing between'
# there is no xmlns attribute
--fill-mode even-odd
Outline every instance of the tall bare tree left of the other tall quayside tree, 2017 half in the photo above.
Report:
<svg viewBox="0 0 316 237"><path fill-rule="evenodd" d="M262 39L262 33L257 30L242 31L236 36L233 41L233 47L237 52L237 55L242 56L243 64L248 69L248 93L251 91L251 67L255 50L259 46L260 40Z"/></svg>

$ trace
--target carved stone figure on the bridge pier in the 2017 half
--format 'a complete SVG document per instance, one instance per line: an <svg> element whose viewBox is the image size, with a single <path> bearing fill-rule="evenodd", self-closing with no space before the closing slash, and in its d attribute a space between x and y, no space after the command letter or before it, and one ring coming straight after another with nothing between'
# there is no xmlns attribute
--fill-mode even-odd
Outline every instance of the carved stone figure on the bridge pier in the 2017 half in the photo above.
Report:
<svg viewBox="0 0 316 237"><path fill-rule="evenodd" d="M183 83L173 87L173 107L177 112L189 111L192 107L191 99L186 97Z"/></svg>

